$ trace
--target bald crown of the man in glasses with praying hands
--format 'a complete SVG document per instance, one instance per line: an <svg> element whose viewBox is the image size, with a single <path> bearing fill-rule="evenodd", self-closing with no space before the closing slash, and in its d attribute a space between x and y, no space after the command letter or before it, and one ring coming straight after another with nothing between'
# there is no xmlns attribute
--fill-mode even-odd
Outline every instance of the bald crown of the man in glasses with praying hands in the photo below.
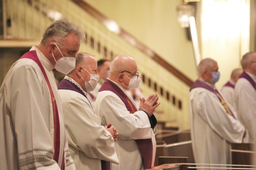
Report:
<svg viewBox="0 0 256 170"><path fill-rule="evenodd" d="M110 65L110 74L118 75L122 71L137 71L136 61L128 55L117 55Z"/></svg>

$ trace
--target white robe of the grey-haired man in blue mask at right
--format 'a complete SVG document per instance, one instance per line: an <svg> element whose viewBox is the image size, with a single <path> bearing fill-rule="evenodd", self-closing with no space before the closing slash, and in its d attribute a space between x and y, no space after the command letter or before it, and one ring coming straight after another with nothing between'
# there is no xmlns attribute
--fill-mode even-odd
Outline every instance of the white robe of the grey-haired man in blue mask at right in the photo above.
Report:
<svg viewBox="0 0 256 170"><path fill-rule="evenodd" d="M237 118L233 107L228 105ZM213 92L201 87L191 90L190 127L197 164L231 164L230 144L242 142L244 127L227 114Z"/></svg>

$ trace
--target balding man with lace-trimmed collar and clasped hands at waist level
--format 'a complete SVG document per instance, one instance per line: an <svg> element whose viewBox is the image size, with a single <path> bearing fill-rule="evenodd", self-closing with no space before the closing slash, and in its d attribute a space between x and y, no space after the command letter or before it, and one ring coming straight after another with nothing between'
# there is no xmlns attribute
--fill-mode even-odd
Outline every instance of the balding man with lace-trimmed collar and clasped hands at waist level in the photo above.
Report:
<svg viewBox="0 0 256 170"><path fill-rule="evenodd" d="M94 57L77 53L75 69L58 85L69 150L76 169L110 169L109 162L119 163L114 145L118 132L111 124L100 125L101 119L87 99L98 80Z"/></svg>

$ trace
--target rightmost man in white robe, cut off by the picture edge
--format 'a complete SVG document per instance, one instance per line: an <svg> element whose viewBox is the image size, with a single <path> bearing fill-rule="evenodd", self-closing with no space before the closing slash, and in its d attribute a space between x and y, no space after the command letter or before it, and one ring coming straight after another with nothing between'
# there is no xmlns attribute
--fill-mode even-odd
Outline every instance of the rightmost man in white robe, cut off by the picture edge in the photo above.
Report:
<svg viewBox="0 0 256 170"><path fill-rule="evenodd" d="M243 73L240 75L236 86L237 112L248 130L244 142L256 142L256 52L244 54L241 65Z"/></svg>

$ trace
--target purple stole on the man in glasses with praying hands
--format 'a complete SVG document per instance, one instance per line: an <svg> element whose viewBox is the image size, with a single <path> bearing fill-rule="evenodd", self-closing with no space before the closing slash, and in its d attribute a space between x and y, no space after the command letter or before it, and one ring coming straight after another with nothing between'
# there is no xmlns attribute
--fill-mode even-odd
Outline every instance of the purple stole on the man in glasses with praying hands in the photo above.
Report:
<svg viewBox="0 0 256 170"><path fill-rule="evenodd" d="M115 93L125 104L127 110L130 114L133 114L137 111L137 108L133 105L131 100L127 97L127 95L121 90L115 83L111 82L110 80L106 80L99 91L112 91ZM154 115L152 115L154 116ZM142 155L142 163L144 164L145 169L151 168L152 165L152 154L153 154L153 144L152 140L150 139L137 139L135 140L140 153Z"/></svg>

